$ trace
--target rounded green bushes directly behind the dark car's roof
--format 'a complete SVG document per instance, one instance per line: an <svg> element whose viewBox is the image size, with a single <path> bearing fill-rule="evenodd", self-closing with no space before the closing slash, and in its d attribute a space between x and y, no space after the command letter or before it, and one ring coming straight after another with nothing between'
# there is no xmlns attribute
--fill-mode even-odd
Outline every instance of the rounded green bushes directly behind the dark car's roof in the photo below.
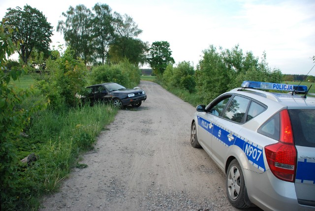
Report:
<svg viewBox="0 0 315 211"><path fill-rule="evenodd" d="M90 81L92 84L115 82L133 88L140 83L140 69L128 60L115 65L104 64L92 69Z"/></svg>

